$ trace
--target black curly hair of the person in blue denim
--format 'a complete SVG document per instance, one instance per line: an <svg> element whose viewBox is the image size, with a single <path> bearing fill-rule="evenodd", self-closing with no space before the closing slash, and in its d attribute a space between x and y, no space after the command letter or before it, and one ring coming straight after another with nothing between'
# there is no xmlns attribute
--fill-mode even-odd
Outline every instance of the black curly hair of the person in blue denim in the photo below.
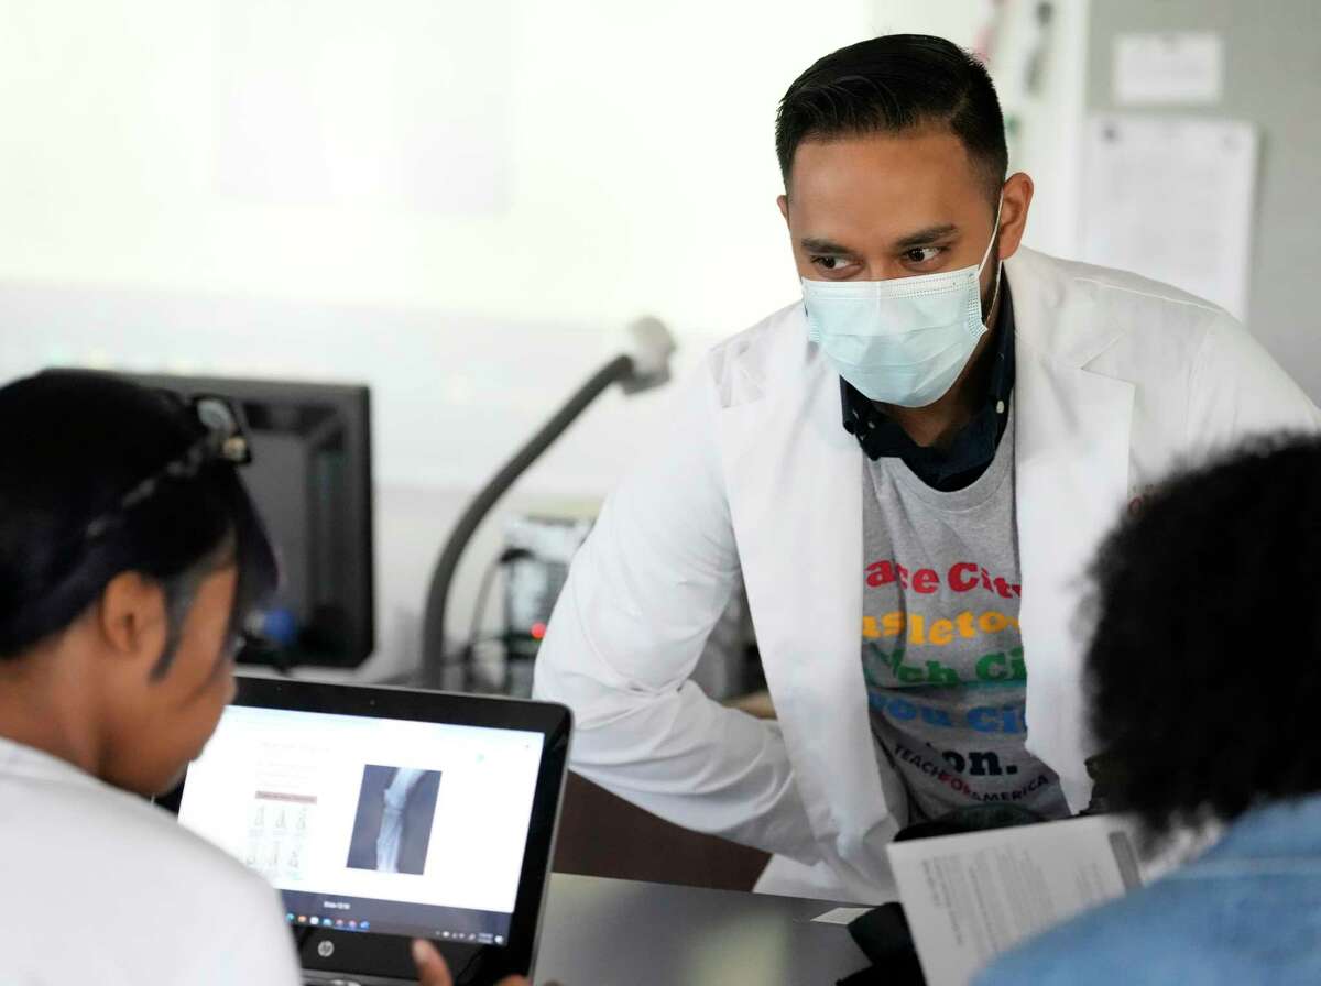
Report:
<svg viewBox="0 0 1321 986"><path fill-rule="evenodd" d="M1321 791L1321 438L1255 440L1174 479L1091 579L1091 727L1115 808L1159 836Z"/></svg>

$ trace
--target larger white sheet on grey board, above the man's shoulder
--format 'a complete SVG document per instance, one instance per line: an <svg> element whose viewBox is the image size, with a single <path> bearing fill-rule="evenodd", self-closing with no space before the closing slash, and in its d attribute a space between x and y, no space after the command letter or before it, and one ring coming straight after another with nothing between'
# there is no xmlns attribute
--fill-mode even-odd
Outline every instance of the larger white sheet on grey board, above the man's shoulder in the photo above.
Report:
<svg viewBox="0 0 1321 986"><path fill-rule="evenodd" d="M1082 259L1173 284L1246 319L1256 143L1236 120L1094 116Z"/></svg>

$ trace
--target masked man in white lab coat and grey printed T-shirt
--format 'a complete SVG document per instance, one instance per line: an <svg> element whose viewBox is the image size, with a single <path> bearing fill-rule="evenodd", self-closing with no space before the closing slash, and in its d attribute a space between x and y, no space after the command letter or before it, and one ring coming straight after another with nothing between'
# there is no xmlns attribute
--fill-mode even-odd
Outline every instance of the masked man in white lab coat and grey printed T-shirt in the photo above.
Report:
<svg viewBox="0 0 1321 986"><path fill-rule="evenodd" d="M536 694L589 779L775 853L761 890L880 902L906 825L1087 805L1094 546L1170 469L1321 418L1214 305L1020 248L1032 180L946 41L827 55L777 149L803 300L711 351L613 494ZM740 578L777 722L687 682Z"/></svg>

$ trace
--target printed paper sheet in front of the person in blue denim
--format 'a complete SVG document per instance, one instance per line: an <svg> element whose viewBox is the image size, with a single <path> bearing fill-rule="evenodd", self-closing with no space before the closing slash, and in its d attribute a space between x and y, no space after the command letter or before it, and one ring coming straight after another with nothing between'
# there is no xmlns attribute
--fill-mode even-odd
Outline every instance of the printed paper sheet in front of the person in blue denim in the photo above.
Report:
<svg viewBox="0 0 1321 986"><path fill-rule="evenodd" d="M1147 875L1122 816L893 842L888 853L927 986L966 986L995 956Z"/></svg>

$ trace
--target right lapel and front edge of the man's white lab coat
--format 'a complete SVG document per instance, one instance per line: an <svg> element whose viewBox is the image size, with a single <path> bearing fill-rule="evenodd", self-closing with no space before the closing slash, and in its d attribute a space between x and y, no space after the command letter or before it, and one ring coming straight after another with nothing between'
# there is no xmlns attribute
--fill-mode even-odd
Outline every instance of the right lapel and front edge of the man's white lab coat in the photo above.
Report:
<svg viewBox="0 0 1321 986"><path fill-rule="evenodd" d="M1018 327L1015 482L1028 748L1059 773L1070 808L1081 810L1091 796L1083 762L1095 752L1078 700L1090 628L1085 614L1061 602L1078 598L1095 545L1127 500L1135 388L1089 368L1125 329L1106 318L1103 289L1086 268L1029 249L1005 267Z"/></svg>

